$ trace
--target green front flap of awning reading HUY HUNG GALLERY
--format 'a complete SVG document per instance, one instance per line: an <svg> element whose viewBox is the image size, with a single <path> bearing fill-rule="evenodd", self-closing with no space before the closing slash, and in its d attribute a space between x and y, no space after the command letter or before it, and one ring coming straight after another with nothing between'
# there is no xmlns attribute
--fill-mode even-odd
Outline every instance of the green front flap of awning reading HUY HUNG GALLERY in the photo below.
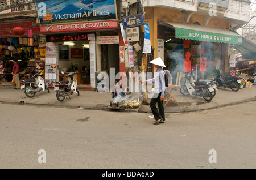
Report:
<svg viewBox="0 0 256 180"><path fill-rule="evenodd" d="M232 36L232 35L224 35L221 33L195 31L191 29L175 28L175 37L185 39L185 40L220 42L220 43L228 43L228 44L242 44L241 36Z"/></svg>

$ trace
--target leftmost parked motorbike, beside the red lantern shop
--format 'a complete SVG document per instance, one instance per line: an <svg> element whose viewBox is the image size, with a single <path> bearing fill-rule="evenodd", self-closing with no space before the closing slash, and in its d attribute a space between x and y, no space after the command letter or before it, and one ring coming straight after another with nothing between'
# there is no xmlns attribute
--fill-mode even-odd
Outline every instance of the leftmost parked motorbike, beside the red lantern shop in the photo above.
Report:
<svg viewBox="0 0 256 180"><path fill-rule="evenodd" d="M36 73L30 79L24 79L20 81L20 88L23 89L26 96L30 98L34 97L36 92L46 90L49 93L49 89L39 73Z"/></svg>

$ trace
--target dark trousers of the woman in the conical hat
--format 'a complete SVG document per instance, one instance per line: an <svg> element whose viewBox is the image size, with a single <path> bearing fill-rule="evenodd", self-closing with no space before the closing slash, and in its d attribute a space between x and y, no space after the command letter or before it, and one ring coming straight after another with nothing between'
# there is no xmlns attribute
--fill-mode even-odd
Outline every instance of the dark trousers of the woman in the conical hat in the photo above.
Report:
<svg viewBox="0 0 256 180"><path fill-rule="evenodd" d="M163 121L165 121L163 101L161 101L160 97L161 93L154 93L150 101L150 108L152 110L155 120L163 118ZM158 108L156 108L156 103L158 104Z"/></svg>

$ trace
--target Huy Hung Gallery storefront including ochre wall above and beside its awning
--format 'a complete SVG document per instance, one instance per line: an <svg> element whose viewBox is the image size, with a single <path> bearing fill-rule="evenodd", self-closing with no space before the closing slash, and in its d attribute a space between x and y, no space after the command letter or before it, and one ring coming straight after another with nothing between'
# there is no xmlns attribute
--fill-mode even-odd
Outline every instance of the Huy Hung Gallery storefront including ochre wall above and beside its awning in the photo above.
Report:
<svg viewBox="0 0 256 180"><path fill-rule="evenodd" d="M229 68L229 44L242 44L242 37L229 30L229 21L218 17L160 7L145 8L151 31L154 58L161 57L174 77L195 70L196 79L213 78L217 68ZM151 16L154 14L154 16ZM207 23L207 25L204 25Z"/></svg>

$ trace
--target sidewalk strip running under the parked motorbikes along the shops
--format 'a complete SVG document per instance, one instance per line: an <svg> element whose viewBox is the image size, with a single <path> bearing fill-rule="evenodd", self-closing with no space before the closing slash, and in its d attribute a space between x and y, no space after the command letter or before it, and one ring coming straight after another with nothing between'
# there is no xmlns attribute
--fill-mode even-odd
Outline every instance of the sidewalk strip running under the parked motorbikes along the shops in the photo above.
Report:
<svg viewBox="0 0 256 180"><path fill-rule="evenodd" d="M134 96L135 94L133 94ZM136 95L135 95L136 96ZM59 102L56 98L55 91L50 90L37 92L32 98L25 95L22 90L14 89L13 85L8 83L0 84L0 102L1 103L14 103L18 104L20 101L24 101L24 104L28 105L47 105L63 108L80 108L92 109L92 110L121 110L119 108L111 108L110 101L112 96L110 92L94 92L94 91L80 91L80 96L76 94L66 98L63 102ZM255 101L256 100L256 85L252 85L251 88L242 88L237 92L232 91L229 88L218 88L216 96L213 100L207 102L203 97L197 96L184 96L179 91L175 94L175 99L179 102L179 105L173 104L171 101L164 106L166 113L179 113L179 112L191 112L195 110L203 110L210 108L218 108L221 106L238 104L242 102ZM140 98L142 101L142 98ZM138 108L126 108L122 109L126 112L151 112L150 106L142 104Z"/></svg>

